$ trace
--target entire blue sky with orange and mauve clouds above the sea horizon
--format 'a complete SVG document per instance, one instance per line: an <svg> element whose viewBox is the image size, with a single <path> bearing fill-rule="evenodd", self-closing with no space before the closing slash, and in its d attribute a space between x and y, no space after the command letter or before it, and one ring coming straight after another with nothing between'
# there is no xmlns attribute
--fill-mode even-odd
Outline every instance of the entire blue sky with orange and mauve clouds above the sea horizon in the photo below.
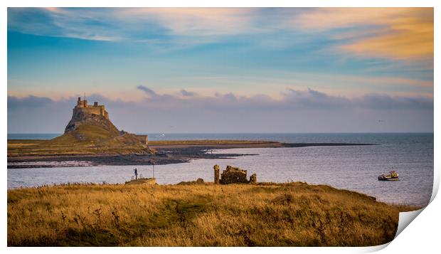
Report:
<svg viewBox="0 0 441 254"><path fill-rule="evenodd" d="M433 132L432 8L9 8L8 132Z"/></svg>

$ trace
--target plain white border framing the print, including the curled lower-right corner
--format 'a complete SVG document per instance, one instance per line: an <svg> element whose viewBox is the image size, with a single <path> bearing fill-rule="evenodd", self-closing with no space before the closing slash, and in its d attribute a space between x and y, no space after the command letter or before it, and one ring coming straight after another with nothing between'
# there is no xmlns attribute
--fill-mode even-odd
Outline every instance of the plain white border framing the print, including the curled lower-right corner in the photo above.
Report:
<svg viewBox="0 0 441 254"><path fill-rule="evenodd" d="M439 67L439 59L440 59L440 40L439 40L439 18L441 15L441 12L439 11L441 1L431 1L431 0L420 0L420 1L409 1L409 0L402 0L402 1L394 1L394 0L373 0L373 1L320 1L320 0L309 0L309 1L234 1L234 0L211 0L211 1L194 1L194 0L187 0L187 1L179 1L179 0L164 0L164 1L139 1L139 0L124 0L124 1L105 1L105 0L77 0L77 1L69 1L69 0L58 0L58 1L52 1L52 0L40 0L38 3L36 1L31 0L16 0L16 1L10 1L10 0L4 0L1 1L1 80L3 80L5 85L1 86L3 96L5 99L5 95L7 95L7 51L6 51L6 26L7 26L7 6L23 6L23 7L30 7L30 6L208 6L208 7L216 7L216 6L297 6L297 7L318 7L318 6L358 6L358 7L388 7L388 6L395 6L395 7L408 7L408 6L420 6L420 7L435 7L435 79L434 83L437 84L437 81L439 80L439 75L436 73L440 73L440 67ZM435 93L434 97L437 97L439 95L440 89L437 88L437 85L435 85ZM435 112L439 112L439 103L435 100ZM6 100L1 100L1 119L6 120L7 119L7 105ZM440 118L437 117L435 114L435 130L438 129L440 126ZM4 121L6 122L6 121ZM5 166L4 170L1 171L2 179L4 181L4 192L2 195L2 201L1 201L1 218L2 220L2 226L1 226L1 240L2 240L2 247L5 248L6 251L11 253L26 251L38 251L38 252L45 252L45 253L58 253L60 249L58 248L6 248L6 240L7 240L7 228L6 228L6 186L7 186L7 177L6 177L6 139L7 139L7 125L2 124L1 125L1 135L4 137L4 143L2 146L2 152L4 154L4 157L2 157L2 164ZM440 137L438 137L437 132L435 132L435 177L434 177L434 192L432 194L432 199L435 197L436 190L439 186L440 182L440 162L439 159L437 159L437 144L440 144ZM400 234L395 240L393 240L388 248L383 250L383 253L398 253L398 252L404 252L408 253L409 251L412 252L425 252L425 250L435 250L437 249L437 243L439 241L439 228L440 226L440 211L441 211L441 204L440 199L435 199L430 203L430 205L425 208L425 210L421 213L421 216L418 216L415 218L415 222L411 223L408 228L405 228L403 233ZM386 244L387 245L387 244ZM188 253L206 253L207 251L213 251L213 252L220 252L220 251L233 251L233 252L243 252L243 251L253 251L253 253L262 253L262 252L268 252L268 251L277 251L277 252L292 252L292 251L301 251L302 253L317 253L317 252L326 252L326 253L360 253L360 252L371 252L375 250L380 250L381 248L386 247L386 245L382 246L376 246L373 248L106 248L105 251L110 251L111 253L119 252L119 251L132 251L132 252L145 252L147 251L159 251L159 252L165 252L168 250L179 250L180 252L188 252ZM78 250L81 251L90 251L95 252L97 249L95 248L63 248L63 252L72 252L76 253Z"/></svg>

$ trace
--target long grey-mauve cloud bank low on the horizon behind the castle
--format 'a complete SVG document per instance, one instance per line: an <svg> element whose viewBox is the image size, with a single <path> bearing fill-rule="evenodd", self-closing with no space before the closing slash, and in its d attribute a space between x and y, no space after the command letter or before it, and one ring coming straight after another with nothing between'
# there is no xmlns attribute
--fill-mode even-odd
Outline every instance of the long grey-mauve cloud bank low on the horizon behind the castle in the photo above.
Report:
<svg viewBox="0 0 441 254"><path fill-rule="evenodd" d="M88 96L106 106L110 119L130 132L423 132L433 130L433 100L367 94L339 97L318 90L287 89L280 100L267 95L181 97L139 86L140 102ZM176 93L175 93L176 94ZM76 97L8 97L8 132L61 132ZM51 112L51 113L48 113ZM378 119L388 120L378 127ZM32 122L32 125L28 123ZM317 125L317 122L322 124ZM174 126L171 128L170 126ZM378 129L380 128L380 129Z"/></svg>

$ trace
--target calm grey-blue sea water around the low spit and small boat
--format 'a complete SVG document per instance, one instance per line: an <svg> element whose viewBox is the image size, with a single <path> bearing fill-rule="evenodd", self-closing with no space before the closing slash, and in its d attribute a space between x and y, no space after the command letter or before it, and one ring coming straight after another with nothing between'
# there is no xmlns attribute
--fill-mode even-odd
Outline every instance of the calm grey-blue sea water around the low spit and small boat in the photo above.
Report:
<svg viewBox="0 0 441 254"><path fill-rule="evenodd" d="M8 138L19 138L8 134ZM41 135L19 134L23 139ZM51 138L54 136L49 136ZM57 134L52 134L57 135ZM202 178L213 181L213 165L240 166L257 181L306 181L329 184L375 196L388 203L425 205L433 184L433 134L166 134L160 139L265 139L280 142L375 143L376 146L228 149L228 153L259 154L233 159L197 159L184 164L155 166L159 184L176 184ZM217 153L227 152L217 150ZM136 166L152 176L152 166ZM8 169L8 188L68 182L124 183L134 166L84 166ZM379 174L398 171L400 181L378 181Z"/></svg>

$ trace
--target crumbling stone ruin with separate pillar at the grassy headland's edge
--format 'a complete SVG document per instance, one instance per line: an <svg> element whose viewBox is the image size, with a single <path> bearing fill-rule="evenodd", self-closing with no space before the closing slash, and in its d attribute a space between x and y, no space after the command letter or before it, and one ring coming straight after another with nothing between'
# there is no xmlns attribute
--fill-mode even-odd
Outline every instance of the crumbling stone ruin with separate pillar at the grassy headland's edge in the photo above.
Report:
<svg viewBox="0 0 441 254"><path fill-rule="evenodd" d="M227 166L222 172L221 179L219 179L219 166L214 165L214 183L215 184L255 184L257 182L257 175L252 174L250 180L247 179L247 171L234 166Z"/></svg>

